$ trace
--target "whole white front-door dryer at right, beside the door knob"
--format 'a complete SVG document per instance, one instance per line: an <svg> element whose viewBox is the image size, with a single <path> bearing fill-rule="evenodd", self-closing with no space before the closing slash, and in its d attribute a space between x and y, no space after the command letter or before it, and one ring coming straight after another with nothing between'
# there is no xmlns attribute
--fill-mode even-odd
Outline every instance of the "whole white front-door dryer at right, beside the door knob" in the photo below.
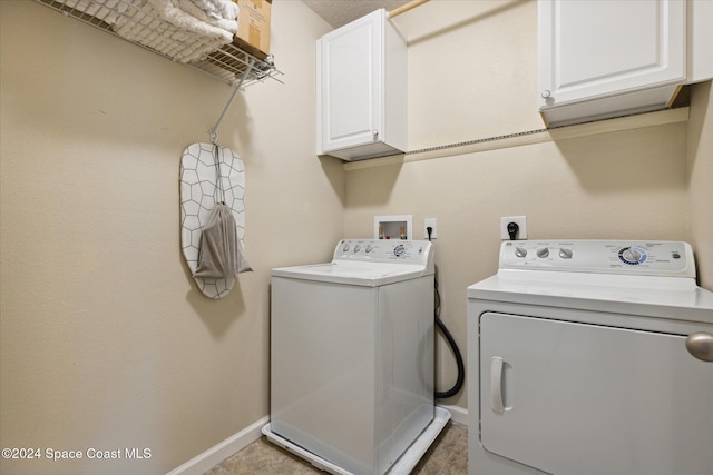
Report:
<svg viewBox="0 0 713 475"><path fill-rule="evenodd" d="M710 475L706 355L687 244L504 243L468 287L469 474Z"/></svg>

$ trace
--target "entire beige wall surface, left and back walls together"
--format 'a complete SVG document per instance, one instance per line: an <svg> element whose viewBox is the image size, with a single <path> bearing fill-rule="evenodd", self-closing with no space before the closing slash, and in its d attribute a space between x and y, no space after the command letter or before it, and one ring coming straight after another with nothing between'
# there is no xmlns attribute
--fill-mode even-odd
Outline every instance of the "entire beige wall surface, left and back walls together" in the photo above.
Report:
<svg viewBox="0 0 713 475"><path fill-rule="evenodd" d="M248 88L218 140L245 161L255 273L213 301L180 256L178 161L231 89L35 2L0 2L0 21L2 446L153 453L3 474L162 473L265 416L270 268L326 260L374 215L412 214L418 238L438 219L442 318L463 352L466 287L496 270L500 216L526 215L533 238L690 239L713 289L710 85L688 125L344 172L314 157L314 40L330 28L276 0L285 83ZM535 2L432 1L398 22L410 149L543 127ZM442 342L438 358L445 389Z"/></svg>

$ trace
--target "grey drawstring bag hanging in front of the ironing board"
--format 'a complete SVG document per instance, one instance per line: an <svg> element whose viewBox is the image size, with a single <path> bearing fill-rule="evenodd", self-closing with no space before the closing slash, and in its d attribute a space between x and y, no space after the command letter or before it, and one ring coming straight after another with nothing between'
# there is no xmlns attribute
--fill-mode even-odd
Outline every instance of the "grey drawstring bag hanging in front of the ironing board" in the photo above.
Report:
<svg viewBox="0 0 713 475"><path fill-rule="evenodd" d="M217 170L216 194L221 201L216 199L215 207L203 227L198 266L193 276L205 279L232 279L238 273L252 270L252 268L237 237L233 210L225 205L217 146L214 149L214 158Z"/></svg>

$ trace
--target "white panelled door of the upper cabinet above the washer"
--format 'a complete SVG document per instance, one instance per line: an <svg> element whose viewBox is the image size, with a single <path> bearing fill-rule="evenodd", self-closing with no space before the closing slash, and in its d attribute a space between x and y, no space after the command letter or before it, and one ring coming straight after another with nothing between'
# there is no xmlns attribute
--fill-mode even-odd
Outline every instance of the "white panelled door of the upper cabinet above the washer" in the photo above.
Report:
<svg viewBox="0 0 713 475"><path fill-rule="evenodd" d="M374 141L381 130L383 22L380 11L321 40L323 150Z"/></svg>

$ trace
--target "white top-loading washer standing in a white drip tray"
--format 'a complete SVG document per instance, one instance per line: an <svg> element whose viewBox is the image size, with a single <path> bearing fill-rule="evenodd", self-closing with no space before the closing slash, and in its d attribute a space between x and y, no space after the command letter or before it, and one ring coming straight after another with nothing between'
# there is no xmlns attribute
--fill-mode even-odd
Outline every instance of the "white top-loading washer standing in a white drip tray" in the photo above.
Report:
<svg viewBox="0 0 713 475"><path fill-rule="evenodd" d="M271 442L335 474L407 474L450 418L433 405L433 249L346 239L272 270Z"/></svg>

